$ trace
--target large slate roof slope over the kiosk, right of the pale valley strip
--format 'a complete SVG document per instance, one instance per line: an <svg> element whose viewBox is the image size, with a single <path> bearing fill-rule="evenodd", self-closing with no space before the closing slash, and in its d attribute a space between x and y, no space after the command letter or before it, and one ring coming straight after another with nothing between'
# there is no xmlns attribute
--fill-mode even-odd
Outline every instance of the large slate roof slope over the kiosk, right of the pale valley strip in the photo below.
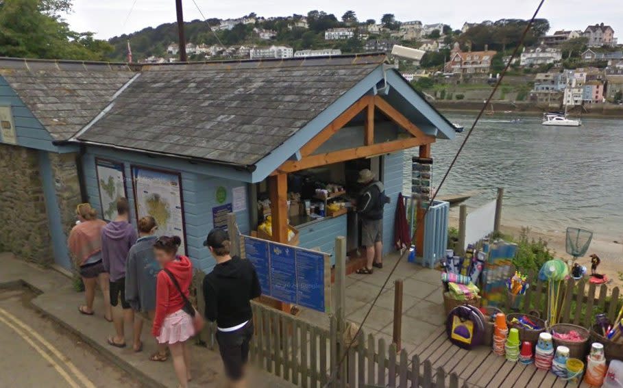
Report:
<svg viewBox="0 0 623 388"><path fill-rule="evenodd" d="M77 139L252 165L378 68L384 55L143 66Z"/></svg>

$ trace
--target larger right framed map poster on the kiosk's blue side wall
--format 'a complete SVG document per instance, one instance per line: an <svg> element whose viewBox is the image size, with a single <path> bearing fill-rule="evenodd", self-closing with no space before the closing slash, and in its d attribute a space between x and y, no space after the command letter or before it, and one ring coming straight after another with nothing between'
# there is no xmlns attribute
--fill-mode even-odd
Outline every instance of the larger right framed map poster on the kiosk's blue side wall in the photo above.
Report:
<svg viewBox="0 0 623 388"><path fill-rule="evenodd" d="M131 166L131 170L136 216L154 217L158 224L156 235L179 236L179 253L187 254L182 175L141 166Z"/></svg>

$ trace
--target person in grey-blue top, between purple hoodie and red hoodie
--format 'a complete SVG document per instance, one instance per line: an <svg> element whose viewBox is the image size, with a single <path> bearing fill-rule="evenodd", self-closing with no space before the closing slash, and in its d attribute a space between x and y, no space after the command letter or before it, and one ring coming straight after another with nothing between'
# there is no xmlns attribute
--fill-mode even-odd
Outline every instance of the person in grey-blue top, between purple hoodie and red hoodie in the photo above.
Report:
<svg viewBox="0 0 623 388"><path fill-rule="evenodd" d="M134 313L147 314L150 320L156 315L156 279L160 265L154 254L158 225L152 216L138 220L138 240L127 253L125 261L125 301ZM137 333L141 337L141 333ZM166 344L158 343L158 351L151 354L151 361L167 361Z"/></svg>

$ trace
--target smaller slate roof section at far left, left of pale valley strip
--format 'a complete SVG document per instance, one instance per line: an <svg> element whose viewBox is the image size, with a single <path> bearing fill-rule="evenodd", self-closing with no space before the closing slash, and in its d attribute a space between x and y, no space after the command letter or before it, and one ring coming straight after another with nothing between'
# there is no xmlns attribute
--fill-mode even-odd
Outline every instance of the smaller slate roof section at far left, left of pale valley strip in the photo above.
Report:
<svg viewBox="0 0 623 388"><path fill-rule="evenodd" d="M80 131L135 74L125 64L0 59L0 75L54 140Z"/></svg>

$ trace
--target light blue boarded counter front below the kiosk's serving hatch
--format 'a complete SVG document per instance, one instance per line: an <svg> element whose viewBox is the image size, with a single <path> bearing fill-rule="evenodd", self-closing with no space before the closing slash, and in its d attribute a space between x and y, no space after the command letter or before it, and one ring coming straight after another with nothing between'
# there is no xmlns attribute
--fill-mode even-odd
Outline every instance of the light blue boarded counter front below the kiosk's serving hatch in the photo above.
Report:
<svg viewBox="0 0 623 388"><path fill-rule="evenodd" d="M326 218L321 222L298 227L301 248L320 248L323 253L331 255L331 265L335 265L335 237L346 237L346 215Z"/></svg>

